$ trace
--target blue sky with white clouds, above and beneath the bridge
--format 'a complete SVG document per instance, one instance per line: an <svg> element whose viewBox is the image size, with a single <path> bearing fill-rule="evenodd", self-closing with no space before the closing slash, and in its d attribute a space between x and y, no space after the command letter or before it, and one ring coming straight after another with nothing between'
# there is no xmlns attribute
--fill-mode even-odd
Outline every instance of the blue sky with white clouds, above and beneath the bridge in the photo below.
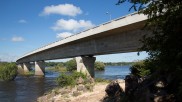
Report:
<svg viewBox="0 0 182 102"><path fill-rule="evenodd" d="M18 57L110 19L130 14L118 0L0 0L0 61ZM143 60L146 52L96 56L97 61ZM66 59L68 60L68 59ZM60 60L60 61L66 61Z"/></svg>

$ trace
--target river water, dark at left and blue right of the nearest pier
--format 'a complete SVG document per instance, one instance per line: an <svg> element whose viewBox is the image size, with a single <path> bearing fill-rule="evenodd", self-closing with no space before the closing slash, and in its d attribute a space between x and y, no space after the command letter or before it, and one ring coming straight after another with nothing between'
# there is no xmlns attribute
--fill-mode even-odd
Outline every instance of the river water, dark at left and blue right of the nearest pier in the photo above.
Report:
<svg viewBox="0 0 182 102"><path fill-rule="evenodd" d="M130 73L129 66L106 66L105 71L96 71L96 78L124 79ZM56 87L59 73L46 72L45 77L17 76L14 81L0 81L0 102L35 102L39 96Z"/></svg>

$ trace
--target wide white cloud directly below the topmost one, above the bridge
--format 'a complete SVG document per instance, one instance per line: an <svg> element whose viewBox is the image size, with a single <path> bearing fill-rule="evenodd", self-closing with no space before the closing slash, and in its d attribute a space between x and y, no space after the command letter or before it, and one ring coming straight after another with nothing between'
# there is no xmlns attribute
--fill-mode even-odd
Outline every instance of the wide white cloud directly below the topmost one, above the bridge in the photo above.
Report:
<svg viewBox="0 0 182 102"><path fill-rule="evenodd" d="M56 22L56 24L52 27L53 30L68 30L68 31L79 31L79 30L85 30L89 29L91 27L95 26L91 21L85 21L85 20L64 20L60 19Z"/></svg>

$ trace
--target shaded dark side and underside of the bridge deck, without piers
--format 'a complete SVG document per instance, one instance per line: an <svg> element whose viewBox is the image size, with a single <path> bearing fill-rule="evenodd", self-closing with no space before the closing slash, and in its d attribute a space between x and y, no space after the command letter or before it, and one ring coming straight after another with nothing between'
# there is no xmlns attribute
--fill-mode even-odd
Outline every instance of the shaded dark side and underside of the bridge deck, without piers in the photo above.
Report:
<svg viewBox="0 0 182 102"><path fill-rule="evenodd" d="M135 29L131 30L134 26ZM150 31L141 30L143 26L144 22L141 22L137 25L133 24L122 29L117 28L103 32L103 34L79 39L22 58L17 63L138 51L138 48L142 46L139 40L143 35L151 33ZM130 30L127 30L128 27L131 27Z"/></svg>

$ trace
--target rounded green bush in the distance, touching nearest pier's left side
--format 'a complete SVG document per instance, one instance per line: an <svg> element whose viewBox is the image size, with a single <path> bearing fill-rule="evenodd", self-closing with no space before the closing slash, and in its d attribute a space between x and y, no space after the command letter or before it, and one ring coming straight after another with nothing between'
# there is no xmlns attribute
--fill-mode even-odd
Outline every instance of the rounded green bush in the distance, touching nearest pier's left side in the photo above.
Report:
<svg viewBox="0 0 182 102"><path fill-rule="evenodd" d="M74 70L77 69L77 65L76 65L76 60L75 59L69 60L65 64L66 64L66 68L67 68L68 71L74 71Z"/></svg>

